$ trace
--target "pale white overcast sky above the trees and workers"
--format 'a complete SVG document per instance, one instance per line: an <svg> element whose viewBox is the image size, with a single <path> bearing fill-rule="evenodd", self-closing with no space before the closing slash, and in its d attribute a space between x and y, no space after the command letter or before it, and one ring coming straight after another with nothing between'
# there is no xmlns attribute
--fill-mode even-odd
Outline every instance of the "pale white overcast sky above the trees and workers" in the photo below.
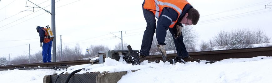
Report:
<svg viewBox="0 0 272 83"><path fill-rule="evenodd" d="M51 12L51 0L30 0ZM77 43L85 53L90 45L106 45L111 49L121 42L140 50L146 27L142 12L143 0L55 0L56 44L60 35L64 46L73 48ZM261 29L271 38L272 0L188 0L200 13L197 25L192 26L199 42L208 41L220 30ZM270 3L270 4L269 4ZM28 7L25 7L27 6ZM51 15L25 0L0 1L0 57L11 58L41 51L37 26L49 25ZM48 7L47 7L48 6ZM267 6L272 7L272 6ZM23 11L20 13L20 11ZM112 34L118 37L113 37Z"/></svg>

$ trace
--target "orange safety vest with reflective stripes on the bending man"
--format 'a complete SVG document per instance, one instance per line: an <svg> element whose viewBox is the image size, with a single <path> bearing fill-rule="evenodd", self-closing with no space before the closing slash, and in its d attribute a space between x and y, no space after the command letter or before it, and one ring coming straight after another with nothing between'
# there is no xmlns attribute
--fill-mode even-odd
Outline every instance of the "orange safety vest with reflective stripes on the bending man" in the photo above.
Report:
<svg viewBox="0 0 272 83"><path fill-rule="evenodd" d="M182 13L182 9L185 7L186 4L189 4L187 0L145 0L144 9L148 9L152 11L156 18L158 19L164 7L170 7L177 11L178 18ZM177 20L173 20L170 24L169 28L173 28L174 25L177 23Z"/></svg>

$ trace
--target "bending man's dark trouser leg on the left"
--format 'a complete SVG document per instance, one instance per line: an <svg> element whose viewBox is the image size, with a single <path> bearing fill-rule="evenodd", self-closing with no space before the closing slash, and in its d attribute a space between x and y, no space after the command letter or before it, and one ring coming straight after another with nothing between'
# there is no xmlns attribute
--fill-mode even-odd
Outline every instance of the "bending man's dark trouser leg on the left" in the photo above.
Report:
<svg viewBox="0 0 272 83"><path fill-rule="evenodd" d="M143 7L144 19L146 20L147 24L146 24L146 29L144 31L140 55L147 56L149 55L149 50L151 48L153 36L156 30L156 19L153 12L147 9L144 9L144 2L142 4L142 7Z"/></svg>

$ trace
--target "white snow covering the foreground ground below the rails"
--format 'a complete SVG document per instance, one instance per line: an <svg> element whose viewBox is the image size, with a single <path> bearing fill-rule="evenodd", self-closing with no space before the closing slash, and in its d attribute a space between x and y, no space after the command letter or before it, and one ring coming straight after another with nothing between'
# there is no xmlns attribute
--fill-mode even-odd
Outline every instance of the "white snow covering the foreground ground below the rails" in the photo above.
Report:
<svg viewBox="0 0 272 83"><path fill-rule="evenodd" d="M0 80L3 83L41 83L45 75L60 74L64 71L71 73L85 68L85 71L76 74L140 69L136 72L128 72L118 83L269 83L272 75L271 65L272 57L266 56L224 59L212 64L205 64L205 61L202 61L173 65L169 62L147 63L146 60L141 65L134 66L106 58L103 64L76 65L69 67L68 71L53 69L0 71Z"/></svg>

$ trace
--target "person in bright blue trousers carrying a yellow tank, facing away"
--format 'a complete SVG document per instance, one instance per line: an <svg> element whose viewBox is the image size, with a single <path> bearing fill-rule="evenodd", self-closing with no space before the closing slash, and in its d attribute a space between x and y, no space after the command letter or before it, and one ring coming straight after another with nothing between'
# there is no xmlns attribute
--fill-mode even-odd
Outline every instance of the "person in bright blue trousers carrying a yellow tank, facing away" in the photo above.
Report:
<svg viewBox="0 0 272 83"><path fill-rule="evenodd" d="M38 26L36 29L40 35L40 46L43 47L43 63L51 62L51 47L53 39L48 38L46 28Z"/></svg>

